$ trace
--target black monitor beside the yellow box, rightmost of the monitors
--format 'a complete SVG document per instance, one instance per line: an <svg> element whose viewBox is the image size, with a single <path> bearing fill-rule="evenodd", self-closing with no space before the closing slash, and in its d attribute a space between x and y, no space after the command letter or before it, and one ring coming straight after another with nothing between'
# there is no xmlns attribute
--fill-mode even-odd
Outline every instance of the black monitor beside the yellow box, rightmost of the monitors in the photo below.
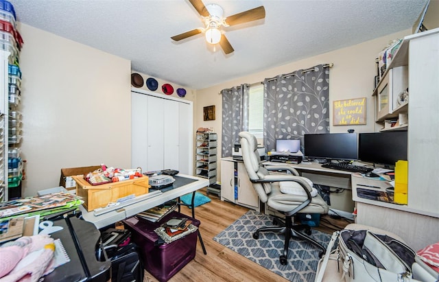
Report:
<svg viewBox="0 0 439 282"><path fill-rule="evenodd" d="M359 133L358 158L392 166L396 161L407 161L407 131Z"/></svg>

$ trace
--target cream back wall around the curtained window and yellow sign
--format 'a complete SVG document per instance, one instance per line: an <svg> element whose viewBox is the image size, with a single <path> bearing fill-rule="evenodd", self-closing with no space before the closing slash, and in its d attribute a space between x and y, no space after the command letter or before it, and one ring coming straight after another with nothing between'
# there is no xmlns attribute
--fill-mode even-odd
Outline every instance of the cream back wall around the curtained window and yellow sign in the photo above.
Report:
<svg viewBox="0 0 439 282"><path fill-rule="evenodd" d="M219 91L237 86L243 83L262 82L264 78L272 78L281 73L290 73L298 69L307 69L316 64L331 63L334 67L329 71L329 105L330 105L330 131L346 132L348 129L354 129L355 132L372 132L375 131L374 106L372 91L374 88L374 76L376 75L375 58L379 51L388 43L396 38L402 38L411 34L412 30L405 30L388 36L369 40L365 43L353 45L343 49L337 49L325 54L313 56L297 62L290 62L280 67L274 67L252 75L246 75L235 80L224 82L207 89L200 89L196 93L197 104L195 106L194 122L196 127L213 127L218 133L218 140L221 140L222 127L222 97ZM340 99L351 99L357 97L366 97L366 125L361 126L333 126L332 108L333 101ZM216 106L215 121L203 121L202 110L204 106ZM221 147L218 146L218 156L221 156ZM218 165L218 167L221 167ZM217 171L220 178L220 169Z"/></svg>

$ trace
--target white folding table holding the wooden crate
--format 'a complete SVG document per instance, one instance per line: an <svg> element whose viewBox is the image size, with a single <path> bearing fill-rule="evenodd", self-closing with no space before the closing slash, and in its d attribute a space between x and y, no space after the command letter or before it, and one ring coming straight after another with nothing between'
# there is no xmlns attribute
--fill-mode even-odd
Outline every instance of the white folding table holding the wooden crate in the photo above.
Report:
<svg viewBox="0 0 439 282"><path fill-rule="evenodd" d="M203 187L209 186L209 180L206 178L189 176L186 174L177 174L177 176L189 178L194 181L180 187L174 187L174 189L165 188L163 189L164 192L158 196L130 204L129 206L122 207L121 209L117 209L115 211L109 211L108 213L104 213L102 215L94 215L93 211L88 212L81 205L80 211L82 212L82 217L84 220L95 224L96 228L102 228L120 220L130 218L141 211L157 207L158 205L168 202L169 200L174 200L187 193L191 193L197 191L198 189L202 189Z"/></svg>

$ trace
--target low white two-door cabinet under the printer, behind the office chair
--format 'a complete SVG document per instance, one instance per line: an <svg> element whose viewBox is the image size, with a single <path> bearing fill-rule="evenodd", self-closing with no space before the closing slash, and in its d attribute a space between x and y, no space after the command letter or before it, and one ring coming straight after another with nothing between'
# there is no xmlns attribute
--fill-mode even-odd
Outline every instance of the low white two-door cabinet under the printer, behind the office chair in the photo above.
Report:
<svg viewBox="0 0 439 282"><path fill-rule="evenodd" d="M259 211L259 197L244 163L231 157L221 159L221 200Z"/></svg>

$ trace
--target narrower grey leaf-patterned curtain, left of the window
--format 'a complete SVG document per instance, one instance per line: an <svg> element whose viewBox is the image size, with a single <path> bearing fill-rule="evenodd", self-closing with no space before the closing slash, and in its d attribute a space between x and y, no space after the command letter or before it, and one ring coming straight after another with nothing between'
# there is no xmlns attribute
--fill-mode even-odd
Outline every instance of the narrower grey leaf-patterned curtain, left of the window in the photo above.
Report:
<svg viewBox="0 0 439 282"><path fill-rule="evenodd" d="M222 158L232 156L238 133L248 131L248 84L223 89L222 94Z"/></svg>

